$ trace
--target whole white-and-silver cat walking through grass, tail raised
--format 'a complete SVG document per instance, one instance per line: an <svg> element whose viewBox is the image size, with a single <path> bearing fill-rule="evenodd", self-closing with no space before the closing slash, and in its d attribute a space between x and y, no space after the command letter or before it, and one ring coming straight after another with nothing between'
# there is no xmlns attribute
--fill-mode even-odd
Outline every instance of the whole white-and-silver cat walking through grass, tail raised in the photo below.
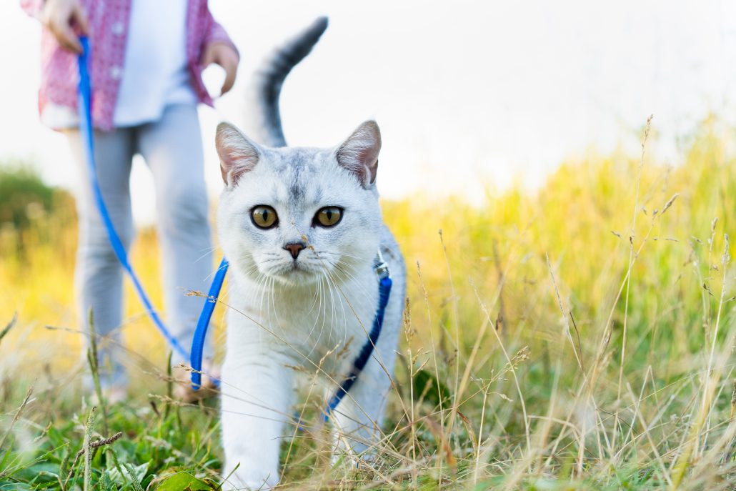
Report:
<svg viewBox="0 0 736 491"><path fill-rule="evenodd" d="M280 480L297 372L319 374L328 397L350 372L378 308L379 250L393 289L372 356L330 413L342 451L370 454L392 386L406 272L378 203L378 124L366 121L327 149L286 147L280 124L283 80L326 27L317 19L258 72L254 139L228 123L216 132L225 185L217 225L230 261L222 366L229 486L269 489Z"/></svg>

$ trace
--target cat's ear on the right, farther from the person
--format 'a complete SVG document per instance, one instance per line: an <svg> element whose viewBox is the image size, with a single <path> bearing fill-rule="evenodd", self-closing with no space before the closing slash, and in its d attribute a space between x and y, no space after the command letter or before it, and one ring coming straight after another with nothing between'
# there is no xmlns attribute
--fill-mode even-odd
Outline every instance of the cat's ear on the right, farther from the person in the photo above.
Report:
<svg viewBox="0 0 736 491"><path fill-rule="evenodd" d="M381 152L381 130L375 121L365 121L338 146L335 157L344 169L355 174L364 188L375 183Z"/></svg>

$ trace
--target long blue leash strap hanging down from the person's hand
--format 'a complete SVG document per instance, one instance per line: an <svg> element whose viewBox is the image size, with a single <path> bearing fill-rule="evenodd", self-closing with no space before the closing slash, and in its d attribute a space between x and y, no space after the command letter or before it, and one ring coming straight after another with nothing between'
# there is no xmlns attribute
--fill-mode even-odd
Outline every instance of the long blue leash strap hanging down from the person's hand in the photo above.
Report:
<svg viewBox="0 0 736 491"><path fill-rule="evenodd" d="M149 317L151 317L153 323L158 328L158 331L160 331L163 337L166 338L166 341L169 342L169 345L171 345L177 353L183 356L183 358L188 358L188 353L182 345L177 342L176 338L171 336L171 332L169 332L169 329L167 329L166 325L163 324L163 321L158 316L158 312L153 307L151 300L149 300L141 282L138 280L138 275L135 274L135 271L130 265L130 261L128 261L128 255L127 252L125 252L125 247L120 240L120 236L118 236L118 233L113 226L113 220L110 218L110 213L107 211L105 200L102 199L102 191L100 191L99 181L97 180L96 163L94 158L94 136L91 107L92 84L89 72L89 63L91 59L90 43L86 37L80 38L80 42L82 43L82 54L79 54L79 130L82 133L82 146L85 147L90 183L97 210L99 211L99 214L102 217L102 222L105 224L105 228L107 229L107 236L110 239L110 245L113 247L113 251L117 256L118 261L120 261L121 266L123 266L123 269L127 272L130 280L132 280L135 292L138 293L138 297L146 308L146 312Z"/></svg>

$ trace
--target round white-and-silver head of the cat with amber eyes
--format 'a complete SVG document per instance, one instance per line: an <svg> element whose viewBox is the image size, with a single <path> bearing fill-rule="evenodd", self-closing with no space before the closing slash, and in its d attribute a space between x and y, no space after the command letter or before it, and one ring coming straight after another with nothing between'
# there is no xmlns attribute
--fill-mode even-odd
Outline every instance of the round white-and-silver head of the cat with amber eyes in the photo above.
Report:
<svg viewBox="0 0 736 491"><path fill-rule="evenodd" d="M299 286L351 278L372 262L382 224L375 121L330 149L268 148L222 123L216 146L225 183L219 238L238 272Z"/></svg>

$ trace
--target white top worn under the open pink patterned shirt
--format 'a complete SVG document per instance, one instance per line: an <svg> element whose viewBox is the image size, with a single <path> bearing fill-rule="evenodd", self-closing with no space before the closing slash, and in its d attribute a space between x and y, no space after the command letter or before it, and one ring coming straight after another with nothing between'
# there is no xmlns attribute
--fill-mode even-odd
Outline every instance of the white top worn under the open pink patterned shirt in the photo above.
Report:
<svg viewBox="0 0 736 491"><path fill-rule="evenodd" d="M131 1L116 127L156 121L167 105L197 104L187 69L186 12L187 0Z"/></svg>

